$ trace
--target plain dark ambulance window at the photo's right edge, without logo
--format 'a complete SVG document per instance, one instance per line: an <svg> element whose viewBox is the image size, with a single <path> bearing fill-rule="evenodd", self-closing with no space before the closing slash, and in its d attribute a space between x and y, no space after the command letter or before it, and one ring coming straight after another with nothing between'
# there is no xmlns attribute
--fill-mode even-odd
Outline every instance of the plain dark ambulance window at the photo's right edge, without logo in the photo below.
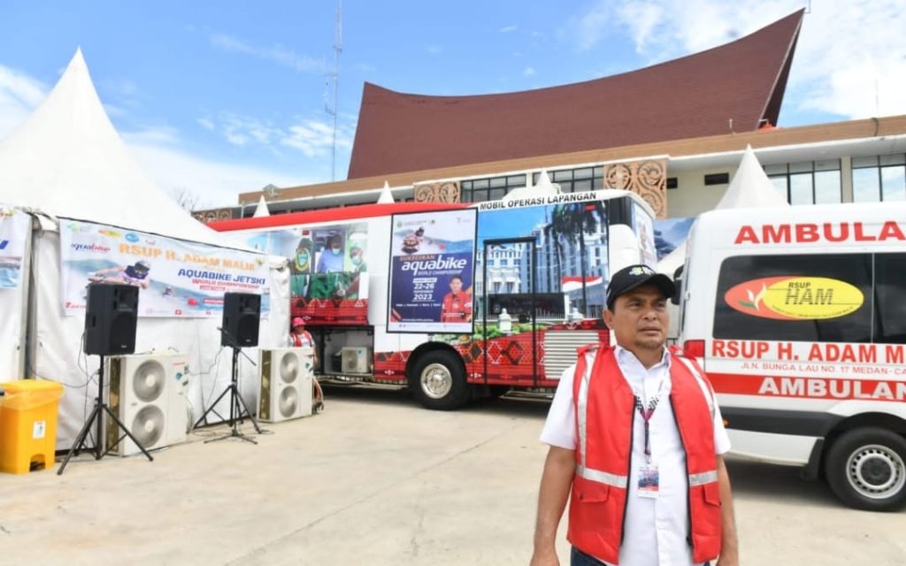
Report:
<svg viewBox="0 0 906 566"><path fill-rule="evenodd" d="M874 341L906 344L906 254L874 255Z"/></svg>

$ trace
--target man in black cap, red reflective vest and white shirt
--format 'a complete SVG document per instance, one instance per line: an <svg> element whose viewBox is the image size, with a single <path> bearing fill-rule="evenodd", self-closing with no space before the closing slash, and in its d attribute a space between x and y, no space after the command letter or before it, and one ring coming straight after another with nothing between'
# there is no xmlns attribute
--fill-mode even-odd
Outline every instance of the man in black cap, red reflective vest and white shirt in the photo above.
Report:
<svg viewBox="0 0 906 566"><path fill-rule="evenodd" d="M604 322L616 346L580 350L541 435L532 566L559 564L567 499L573 566L737 566L729 438L698 364L665 347L674 293L647 265L613 274Z"/></svg>

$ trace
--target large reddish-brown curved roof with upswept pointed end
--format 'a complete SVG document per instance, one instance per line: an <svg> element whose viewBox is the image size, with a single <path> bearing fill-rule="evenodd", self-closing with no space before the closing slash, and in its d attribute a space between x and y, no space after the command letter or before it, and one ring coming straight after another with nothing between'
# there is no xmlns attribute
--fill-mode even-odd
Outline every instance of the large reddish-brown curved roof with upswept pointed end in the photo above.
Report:
<svg viewBox="0 0 906 566"><path fill-rule="evenodd" d="M639 71L536 91L424 96L366 82L349 178L757 130L777 123L804 10Z"/></svg>

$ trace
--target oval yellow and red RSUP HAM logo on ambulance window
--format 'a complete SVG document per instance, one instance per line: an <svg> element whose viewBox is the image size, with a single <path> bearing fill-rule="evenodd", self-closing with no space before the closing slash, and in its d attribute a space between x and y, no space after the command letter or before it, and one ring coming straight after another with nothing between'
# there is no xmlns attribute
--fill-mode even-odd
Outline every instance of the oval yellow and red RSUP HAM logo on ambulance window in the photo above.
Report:
<svg viewBox="0 0 906 566"><path fill-rule="evenodd" d="M858 288L828 277L763 277L732 287L724 301L738 312L777 321L835 319L865 302Z"/></svg>

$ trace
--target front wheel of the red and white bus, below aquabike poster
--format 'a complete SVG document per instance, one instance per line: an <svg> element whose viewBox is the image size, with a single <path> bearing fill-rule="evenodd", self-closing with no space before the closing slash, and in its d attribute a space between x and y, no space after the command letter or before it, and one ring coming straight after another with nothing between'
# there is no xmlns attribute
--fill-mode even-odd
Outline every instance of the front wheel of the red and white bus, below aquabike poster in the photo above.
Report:
<svg viewBox="0 0 906 566"><path fill-rule="evenodd" d="M420 357L409 386L426 408L448 411L462 407L468 400L462 363L449 351L432 351Z"/></svg>

